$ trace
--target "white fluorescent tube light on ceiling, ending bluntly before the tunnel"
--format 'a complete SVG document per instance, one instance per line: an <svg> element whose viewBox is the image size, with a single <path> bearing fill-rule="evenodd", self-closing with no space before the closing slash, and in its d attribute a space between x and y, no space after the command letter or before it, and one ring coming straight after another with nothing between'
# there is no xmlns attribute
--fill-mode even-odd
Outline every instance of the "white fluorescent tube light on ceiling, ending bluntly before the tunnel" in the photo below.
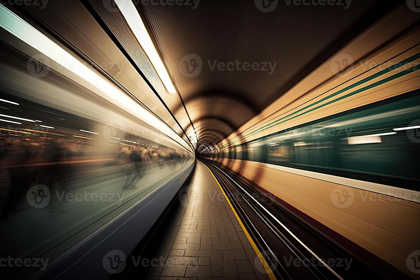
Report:
<svg viewBox="0 0 420 280"><path fill-rule="evenodd" d="M114 0L114 2L117 4L118 8L126 19L127 24L130 26L131 31L133 31L134 36L136 36L137 41L139 41L140 45L142 46L144 52L146 52L146 55L149 57L150 62L155 68L157 75L159 75L160 80L166 88L166 91L169 93L176 93L176 89L172 84L168 71L166 71L165 65L163 65L162 59L157 53L152 39L150 39L149 33L147 32L146 26L144 26L136 6L134 6L131 0Z"/></svg>

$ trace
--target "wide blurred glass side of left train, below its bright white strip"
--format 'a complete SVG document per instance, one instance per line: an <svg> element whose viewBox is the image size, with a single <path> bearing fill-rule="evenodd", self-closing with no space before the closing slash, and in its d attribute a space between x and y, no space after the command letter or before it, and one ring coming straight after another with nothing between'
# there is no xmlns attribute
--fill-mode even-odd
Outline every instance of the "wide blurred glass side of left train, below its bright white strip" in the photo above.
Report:
<svg viewBox="0 0 420 280"><path fill-rule="evenodd" d="M24 56L3 52L0 67L0 98L13 102L2 104L0 121L5 255L74 246L82 230L94 233L193 164L192 152L146 122L76 90L75 81L35 79L16 63L28 58L15 55Z"/></svg>

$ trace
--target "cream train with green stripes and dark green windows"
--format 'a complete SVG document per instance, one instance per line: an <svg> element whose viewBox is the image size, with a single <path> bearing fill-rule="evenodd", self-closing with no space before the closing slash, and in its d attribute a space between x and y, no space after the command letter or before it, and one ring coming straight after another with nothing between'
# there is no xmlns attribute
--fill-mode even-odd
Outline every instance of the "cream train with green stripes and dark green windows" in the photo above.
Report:
<svg viewBox="0 0 420 280"><path fill-rule="evenodd" d="M366 41L355 40L200 155L417 277L419 32L388 34L367 57L337 66L350 52L362 56L355 46ZM322 80L325 68L336 75Z"/></svg>

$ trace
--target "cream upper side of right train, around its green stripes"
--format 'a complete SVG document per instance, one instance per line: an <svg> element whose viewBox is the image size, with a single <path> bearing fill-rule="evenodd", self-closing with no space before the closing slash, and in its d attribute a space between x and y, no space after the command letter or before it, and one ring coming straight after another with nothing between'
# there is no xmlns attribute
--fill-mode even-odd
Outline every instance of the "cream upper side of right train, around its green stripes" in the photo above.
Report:
<svg viewBox="0 0 420 280"><path fill-rule="evenodd" d="M257 115L255 118L250 120L248 123L246 123L244 126L242 126L239 129L239 131L245 131L245 132L239 134L239 136L238 136L238 132L232 133L227 139L223 140L220 144L236 145L236 144L239 144L239 138L241 138L242 141L250 141L252 139L257 139L261 136L265 136L270 133L279 131L281 129L285 129L285 128L296 126L302 123L306 123L308 120L304 118L299 118L298 121L293 119L293 121L291 122L286 121L284 123L279 124L278 126L273 127L272 129L270 128L270 129L259 131L261 127L267 126L269 123L272 123L274 120L277 120L283 117L284 115L289 115L295 112L296 110L298 110L299 108L313 104L313 102L316 102L317 100L320 100L326 96L329 96L330 94L337 92L340 89L344 89L346 86L352 85L358 81L361 81L362 79L365 79L369 76L374 75L375 73L378 73L384 68L387 68L393 64L399 63L400 61L407 59L412 55L418 54L420 52L420 46L417 46L417 44L419 43L420 43L420 30L417 30L410 34L405 35L398 41L387 45L386 47L376 52L375 54L370 55L369 57L361 60L360 63L355 63L354 67L351 69L351 72L349 73L343 73L343 75L341 76L333 76L333 79L328 80L328 82L325 81L324 83L321 83L320 86L318 86L319 81L314 80L312 83L312 89L307 87L305 90L301 90L299 92L296 92L294 88L291 89L289 92L287 92L278 100L276 100L276 102L273 102L272 105L270 105L268 108L262 111L259 115ZM395 57L396 55L398 56ZM381 65L381 63L384 63L384 64ZM418 63L419 63L419 59L416 59L407 65L415 66L415 65L418 65ZM367 71L369 68L372 68L374 65L380 65L380 66L377 66ZM404 66L404 69L407 69L408 67L407 65ZM355 86L354 88L346 92L343 92L331 99L328 99L324 102L317 104L316 106L322 105L323 103L327 103L333 99L337 99L340 96L348 94L349 92L353 92L357 89L363 88L365 86L369 86L377 81L386 79L391 75L401 72L401 69L402 68L395 69L380 77L371 79L362 85ZM317 70L315 70L315 72L316 71ZM364 73L365 71L367 72ZM382 85L375 86L372 89L368 89L364 92L355 94L350 98L347 97L343 99L342 101L338 101L331 104L330 106L326 106L325 109L328 108L327 111L323 111L319 115L317 114L317 117L312 118L311 120L323 118L328 115L333 115L334 113L339 113L345 110L352 109L354 107L359 107L362 105L370 104L378 100L386 99L386 98L393 97L393 96L396 96L405 92L409 92L413 89L418 89L420 87L420 83L418 82L418 80L411 80L411 79L418 77L419 75L420 74L418 73L418 71L415 71L414 73L404 75L402 77L394 79L393 81L388 81ZM305 80L310 79L310 76L311 75L309 75L307 78L302 80L301 83L307 82ZM317 84L314 84L314 83L317 83ZM299 84L295 87L298 87ZM388 87L391 87L396 84L399 85L397 86L397 88L393 87L392 91L390 89L386 90ZM342 102L347 102L347 99L349 100L357 99L360 96L365 97L365 95L369 95L371 93L375 93L375 97L368 97L367 99L363 99L362 102L347 103L343 107L344 109L337 109L337 110L329 109L331 107L338 106L338 104L341 104ZM316 107L316 106L314 105L313 107ZM310 107L307 110L311 110L313 107ZM281 109L279 110L278 108L281 108ZM324 109L324 107L322 107L322 109ZM322 110L315 110L315 112L317 113L320 111ZM299 113L302 113L302 112L299 112ZM303 117L305 116L306 115L303 115ZM291 117L293 117L293 115Z"/></svg>

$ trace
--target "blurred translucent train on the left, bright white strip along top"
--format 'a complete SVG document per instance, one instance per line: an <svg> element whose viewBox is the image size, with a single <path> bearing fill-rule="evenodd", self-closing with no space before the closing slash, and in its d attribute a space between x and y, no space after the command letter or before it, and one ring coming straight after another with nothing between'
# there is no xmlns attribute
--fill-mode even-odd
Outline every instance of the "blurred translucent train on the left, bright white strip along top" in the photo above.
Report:
<svg viewBox="0 0 420 280"><path fill-rule="evenodd" d="M69 262L83 271L87 251L113 242L129 252L192 171L192 148L94 67L0 9L1 256L68 259L60 274ZM52 48L59 62L45 55ZM2 274L31 276L19 268L2 263Z"/></svg>

